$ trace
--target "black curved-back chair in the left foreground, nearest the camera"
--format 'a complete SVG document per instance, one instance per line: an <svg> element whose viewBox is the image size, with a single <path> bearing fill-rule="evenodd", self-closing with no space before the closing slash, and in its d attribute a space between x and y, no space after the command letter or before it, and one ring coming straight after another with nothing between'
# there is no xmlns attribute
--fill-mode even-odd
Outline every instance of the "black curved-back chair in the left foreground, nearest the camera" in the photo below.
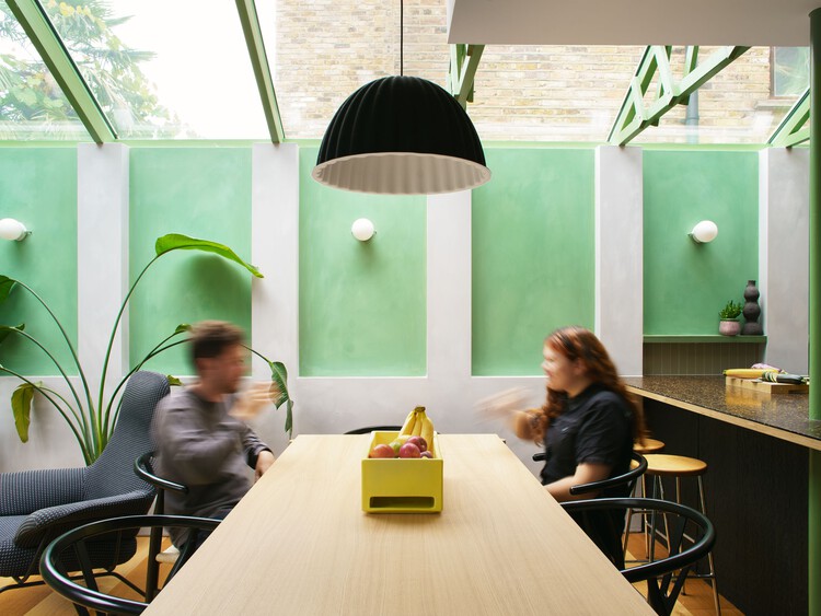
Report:
<svg viewBox="0 0 821 616"><path fill-rule="evenodd" d="M135 601L100 591L93 571L95 566L90 558L90 554L96 549L96 544L101 541L107 544L113 537L130 536L144 527L152 531L162 531L164 526L190 528L188 538L180 551L180 558L169 573L167 583L194 553L197 532L211 532L218 525L219 520L187 515L128 515L91 522L63 533L48 544L41 558L41 573L54 591L77 606L81 615L89 614L86 608L103 614L141 614L150 600ZM68 571L73 570L82 572L84 585L68 576Z"/></svg>

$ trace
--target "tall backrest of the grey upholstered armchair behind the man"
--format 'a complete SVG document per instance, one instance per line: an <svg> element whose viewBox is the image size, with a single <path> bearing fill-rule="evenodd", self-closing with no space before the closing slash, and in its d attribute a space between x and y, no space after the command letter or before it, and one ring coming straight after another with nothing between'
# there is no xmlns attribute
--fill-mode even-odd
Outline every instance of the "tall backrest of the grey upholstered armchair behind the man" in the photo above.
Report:
<svg viewBox="0 0 821 616"><path fill-rule="evenodd" d="M123 393L123 405L108 444L85 477L85 498L104 498L136 490L153 495L134 473L137 456L154 449L151 420L157 404L169 394L169 381L157 372L135 372Z"/></svg>

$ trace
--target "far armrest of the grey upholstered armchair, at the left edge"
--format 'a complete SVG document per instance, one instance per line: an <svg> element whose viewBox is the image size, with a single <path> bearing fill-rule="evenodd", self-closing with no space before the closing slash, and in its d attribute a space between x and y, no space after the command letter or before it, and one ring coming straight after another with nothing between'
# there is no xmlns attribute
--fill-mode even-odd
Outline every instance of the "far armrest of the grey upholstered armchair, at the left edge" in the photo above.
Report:
<svg viewBox="0 0 821 616"><path fill-rule="evenodd" d="M28 515L82 500L85 467L0 474L0 515Z"/></svg>

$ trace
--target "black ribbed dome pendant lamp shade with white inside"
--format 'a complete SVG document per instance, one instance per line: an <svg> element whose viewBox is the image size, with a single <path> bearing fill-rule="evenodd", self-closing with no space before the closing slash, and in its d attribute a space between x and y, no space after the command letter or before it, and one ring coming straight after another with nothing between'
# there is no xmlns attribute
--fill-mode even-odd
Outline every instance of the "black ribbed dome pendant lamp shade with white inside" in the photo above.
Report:
<svg viewBox="0 0 821 616"><path fill-rule="evenodd" d="M452 95L417 77L385 77L342 104L312 176L358 193L435 195L481 186L490 170L471 118Z"/></svg>

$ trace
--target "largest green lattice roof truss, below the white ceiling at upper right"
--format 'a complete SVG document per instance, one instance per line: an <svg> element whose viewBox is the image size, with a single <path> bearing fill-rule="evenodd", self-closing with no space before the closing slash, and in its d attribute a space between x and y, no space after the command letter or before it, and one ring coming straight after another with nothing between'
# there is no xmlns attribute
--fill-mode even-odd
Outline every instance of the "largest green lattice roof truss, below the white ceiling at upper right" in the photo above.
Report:
<svg viewBox="0 0 821 616"><path fill-rule="evenodd" d="M684 75L673 77L670 67L671 47L651 45L645 49L636 72L624 96L608 142L626 146L648 126L657 126L659 119L675 105L686 105L690 95L709 81L716 73L741 56L749 47L729 46L713 53L703 65L697 65L698 48L687 48ZM649 106L645 94L658 73L657 98Z"/></svg>

